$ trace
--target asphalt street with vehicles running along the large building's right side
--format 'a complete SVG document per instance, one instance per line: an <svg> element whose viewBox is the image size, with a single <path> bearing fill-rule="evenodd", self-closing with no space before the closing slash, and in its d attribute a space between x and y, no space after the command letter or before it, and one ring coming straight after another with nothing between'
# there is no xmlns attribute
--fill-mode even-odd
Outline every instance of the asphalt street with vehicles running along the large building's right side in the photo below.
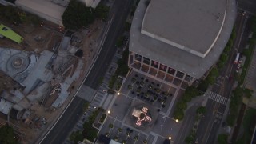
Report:
<svg viewBox="0 0 256 144"><path fill-rule="evenodd" d="M234 42L234 48L230 52L230 59L228 65L222 70L220 75L222 77L234 77L236 67L233 62L236 57L237 52L241 52L242 48L246 46L246 38L249 34L249 25L246 23L246 16L241 14L242 11L238 12L237 19L235 22L237 38ZM246 24L245 29L244 25ZM244 30L242 32L242 30ZM238 48L238 50L236 50ZM229 98L232 88L234 86L234 81L230 81L227 78L224 81L223 86L214 85L212 91L216 94L220 94L223 97ZM198 138L198 143L214 143L217 138L217 132L219 127L222 125L223 113L226 109L226 105L220 104L218 102L209 100L206 104L207 113L205 117L202 118L198 126L198 131L196 138Z"/></svg>

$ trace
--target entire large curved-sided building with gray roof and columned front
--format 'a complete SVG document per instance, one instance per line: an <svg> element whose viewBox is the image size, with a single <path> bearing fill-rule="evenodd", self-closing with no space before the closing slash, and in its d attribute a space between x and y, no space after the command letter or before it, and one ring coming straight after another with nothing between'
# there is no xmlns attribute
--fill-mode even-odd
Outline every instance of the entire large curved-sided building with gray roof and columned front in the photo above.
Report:
<svg viewBox="0 0 256 144"><path fill-rule="evenodd" d="M235 18L234 0L141 0L129 66L162 82L191 85L218 61Z"/></svg>

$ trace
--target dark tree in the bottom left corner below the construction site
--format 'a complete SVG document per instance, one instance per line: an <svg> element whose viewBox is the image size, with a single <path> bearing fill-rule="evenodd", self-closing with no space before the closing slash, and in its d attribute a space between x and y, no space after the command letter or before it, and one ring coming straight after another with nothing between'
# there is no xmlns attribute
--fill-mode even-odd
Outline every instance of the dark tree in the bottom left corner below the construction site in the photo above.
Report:
<svg viewBox="0 0 256 144"><path fill-rule="evenodd" d="M6 124L5 126L0 127L0 143L18 143L14 136L15 134L12 126Z"/></svg>

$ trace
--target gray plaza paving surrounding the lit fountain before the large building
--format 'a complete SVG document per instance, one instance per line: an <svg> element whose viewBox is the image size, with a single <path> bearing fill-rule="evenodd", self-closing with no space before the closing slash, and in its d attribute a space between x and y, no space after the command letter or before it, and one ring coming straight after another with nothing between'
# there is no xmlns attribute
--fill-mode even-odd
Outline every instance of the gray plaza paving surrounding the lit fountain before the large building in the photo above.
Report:
<svg viewBox="0 0 256 144"><path fill-rule="evenodd" d="M162 143L169 137L175 142L181 123L175 122L170 115L175 102L182 95L182 90L179 89L178 86L168 86L132 71L123 82L119 90L120 95L115 94L110 102L106 110L110 110L110 114L107 115L99 134L107 135L121 143L143 143L145 140L147 143ZM146 130L131 124L132 120L127 120L134 106L140 104L156 113L152 116L152 125ZM110 128L111 124L113 128ZM136 136L137 141L134 140Z"/></svg>

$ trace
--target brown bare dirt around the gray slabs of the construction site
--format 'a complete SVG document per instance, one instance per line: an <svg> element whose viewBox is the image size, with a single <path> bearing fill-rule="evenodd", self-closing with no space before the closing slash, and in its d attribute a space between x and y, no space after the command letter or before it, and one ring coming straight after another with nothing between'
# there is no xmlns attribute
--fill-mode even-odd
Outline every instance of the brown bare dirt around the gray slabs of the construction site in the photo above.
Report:
<svg viewBox="0 0 256 144"><path fill-rule="evenodd" d="M61 42L63 36L62 33L55 30L50 30L44 26L5 25L12 28L12 30L14 30L16 33L20 34L24 38L24 42L19 45L7 38L3 38L0 39L0 47L36 51L38 53L42 52L42 50L52 51L53 46L58 44L58 42ZM95 20L92 25L88 26L88 29L79 30L78 32L74 33L74 35L78 38L78 42L72 44L83 50L83 59L85 61L83 71L85 72L87 67L89 67L90 63L92 62L92 59L98 52L100 38L105 26L105 22ZM85 72L80 75L81 78L79 78L77 82L73 82L72 87L74 87L74 89L71 90L70 97L67 98L66 102L63 103L61 108L46 108L37 102L34 102L33 106L30 108L31 116L30 119L28 119L28 122L25 123L10 119L16 133L21 136L21 143L34 143L39 137L42 137L42 135L46 133L46 131L54 124L59 115L62 113L62 110L64 110L66 105L70 102L70 99L74 96L78 86L81 85L82 79L86 75ZM10 78L6 78L7 77L5 77L5 75L0 73L0 83L6 83L6 81L8 81L8 86L6 86L6 88L11 87L13 85L13 83L11 83L12 80ZM42 118L46 118L47 124L43 124L41 122ZM6 122L6 120L0 117L0 122Z"/></svg>

